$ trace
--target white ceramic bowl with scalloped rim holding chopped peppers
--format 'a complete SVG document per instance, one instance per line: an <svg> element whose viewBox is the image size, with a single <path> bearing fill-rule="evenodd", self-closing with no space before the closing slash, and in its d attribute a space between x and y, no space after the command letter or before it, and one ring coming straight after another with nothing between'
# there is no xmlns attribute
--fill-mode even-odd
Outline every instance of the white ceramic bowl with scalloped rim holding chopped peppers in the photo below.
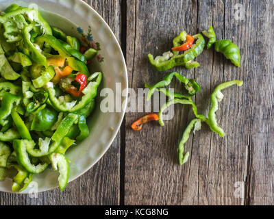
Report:
<svg viewBox="0 0 274 219"><path fill-rule="evenodd" d="M89 5L81 0L0 0L0 10L4 10L12 3L23 6L32 4L32 7L38 5L42 16L50 25L60 27L66 34L71 36L79 37L77 27L82 27L87 32L90 26L92 36L95 41L100 42L102 49L100 53L105 58L103 63L90 66L91 72L97 70L103 72L103 85L100 90L103 88L112 89L115 99L116 83L121 83L121 90L127 89L127 68L119 42L108 24ZM98 96L99 94L100 92ZM121 96L120 93L118 95ZM71 160L69 181L77 179L101 159L108 151L121 126L125 114L125 105L122 107L122 112L103 113L100 110L101 99L102 97L98 98L95 112L92 118L88 120L91 130L90 136L66 153ZM122 101L127 101L127 97L123 97ZM0 191L12 192L11 185L12 179L0 182ZM24 193L34 191L36 185L38 185L38 192L58 187L58 172L46 170L40 175L34 175L34 183L29 185Z"/></svg>

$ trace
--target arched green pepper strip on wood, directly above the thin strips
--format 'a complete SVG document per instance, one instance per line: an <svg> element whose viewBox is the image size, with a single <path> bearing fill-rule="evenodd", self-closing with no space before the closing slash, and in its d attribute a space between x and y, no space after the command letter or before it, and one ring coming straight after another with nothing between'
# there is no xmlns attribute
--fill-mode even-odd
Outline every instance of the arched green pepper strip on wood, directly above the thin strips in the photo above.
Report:
<svg viewBox="0 0 274 219"><path fill-rule="evenodd" d="M190 94L190 96L193 96L197 92L201 91L201 87L199 86L199 83L197 83L194 79L189 80L186 77L184 77L183 75L180 75L179 73L174 72L174 73L170 73L169 75L166 75L166 77L164 77L164 79L162 81L160 81L159 83L156 83L154 86L152 86L150 88L149 94L147 94L147 101L149 101L149 99L151 99L153 92L155 92L155 90L157 90L157 88L169 86L171 84L171 81L174 76L177 77L177 79L179 81L184 83L185 88L186 88L186 90L188 90L188 94Z"/></svg>

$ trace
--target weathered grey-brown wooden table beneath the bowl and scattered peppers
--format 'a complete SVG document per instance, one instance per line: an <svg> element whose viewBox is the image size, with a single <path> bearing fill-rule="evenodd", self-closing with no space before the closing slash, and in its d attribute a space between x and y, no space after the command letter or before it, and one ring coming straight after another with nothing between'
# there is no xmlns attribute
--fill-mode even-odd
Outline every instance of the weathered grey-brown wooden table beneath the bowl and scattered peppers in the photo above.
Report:
<svg viewBox="0 0 274 219"><path fill-rule="evenodd" d="M223 81L242 79L242 88L225 91L218 117L227 137L204 126L186 149L189 162L177 164L177 144L193 118L189 107L176 106L165 127L131 123L143 113L129 113L111 149L66 190L38 198L0 193L1 205L273 205L274 204L274 3L210 0L87 1L114 30L126 54L129 86L137 90L164 73L152 70L147 53L168 51L182 30L196 34L210 25L217 38L239 45L236 68L213 50L197 58L195 70L175 68L202 86L195 101L202 113L210 92ZM242 10L241 10L242 9ZM157 49L158 48L158 49ZM179 88L179 83L173 83Z"/></svg>

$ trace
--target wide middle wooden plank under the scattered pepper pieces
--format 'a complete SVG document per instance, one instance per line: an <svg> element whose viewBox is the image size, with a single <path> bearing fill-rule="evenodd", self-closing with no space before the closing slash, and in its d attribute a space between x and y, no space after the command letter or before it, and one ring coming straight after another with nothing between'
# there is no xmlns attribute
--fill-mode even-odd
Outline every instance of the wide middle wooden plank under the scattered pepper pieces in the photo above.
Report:
<svg viewBox="0 0 274 219"><path fill-rule="evenodd" d="M242 52L255 44L249 38L249 27L233 21L234 4L228 1L131 1L127 5L130 86L137 90L143 88L144 83L152 84L162 79L164 73L157 73L149 66L147 53L160 55L168 51L172 38L183 29L195 34L213 25L219 39L233 40L240 45ZM247 60L245 54L244 59ZM195 100L199 110L205 114L210 107L210 93L219 83L232 79L253 80L246 76L251 70L247 68L246 61L242 62L241 68L236 68L214 51L205 51L197 60L201 63L197 70L173 70L179 70L201 83L202 92ZM172 86L179 88L179 83ZM247 175L249 133L243 130L249 130L247 115L250 116L250 108L242 105L247 103L245 94L248 90L245 85L224 92L225 99L220 105L218 118L227 137L219 138L204 126L194 138L190 136L186 149L191 152L191 157L183 167L177 165L177 145L193 118L189 107L176 106L173 120L167 121L165 127L147 125L140 132L134 132L129 127L144 113L127 114L125 204L243 204L243 198L234 196L234 185L245 183Z"/></svg>

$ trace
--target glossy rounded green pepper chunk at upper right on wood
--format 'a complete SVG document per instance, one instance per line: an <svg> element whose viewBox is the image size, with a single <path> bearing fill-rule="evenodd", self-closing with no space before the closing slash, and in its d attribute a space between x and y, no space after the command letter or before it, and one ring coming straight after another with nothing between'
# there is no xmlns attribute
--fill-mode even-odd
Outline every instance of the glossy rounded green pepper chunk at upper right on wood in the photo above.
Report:
<svg viewBox="0 0 274 219"><path fill-rule="evenodd" d="M228 60L231 60L235 66L240 67L240 49L236 44L230 40L218 40L215 44L215 50L223 53L223 55L225 55Z"/></svg>

